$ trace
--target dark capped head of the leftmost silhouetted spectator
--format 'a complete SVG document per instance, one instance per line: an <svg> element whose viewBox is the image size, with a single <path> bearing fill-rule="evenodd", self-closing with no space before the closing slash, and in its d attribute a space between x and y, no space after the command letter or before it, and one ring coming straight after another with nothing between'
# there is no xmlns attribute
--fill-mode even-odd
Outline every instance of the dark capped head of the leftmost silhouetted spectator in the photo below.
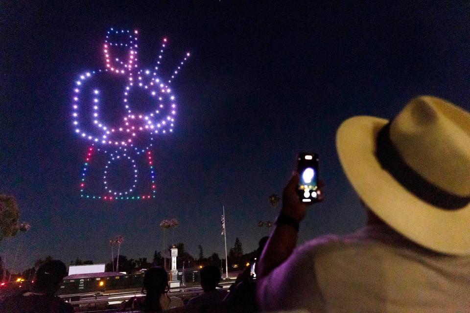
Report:
<svg viewBox="0 0 470 313"><path fill-rule="evenodd" d="M54 293L59 287L62 279L67 276L67 267L59 260L44 263L36 272L34 289L45 293Z"/></svg>

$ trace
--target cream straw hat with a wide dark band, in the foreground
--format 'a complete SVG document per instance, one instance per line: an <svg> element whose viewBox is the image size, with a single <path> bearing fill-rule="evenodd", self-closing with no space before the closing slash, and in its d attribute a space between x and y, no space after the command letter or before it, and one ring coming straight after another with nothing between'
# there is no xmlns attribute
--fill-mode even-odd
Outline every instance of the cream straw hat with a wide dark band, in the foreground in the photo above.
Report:
<svg viewBox="0 0 470 313"><path fill-rule="evenodd" d="M336 148L353 188L385 223L421 246L470 255L469 112L420 96L391 121L344 121Z"/></svg>

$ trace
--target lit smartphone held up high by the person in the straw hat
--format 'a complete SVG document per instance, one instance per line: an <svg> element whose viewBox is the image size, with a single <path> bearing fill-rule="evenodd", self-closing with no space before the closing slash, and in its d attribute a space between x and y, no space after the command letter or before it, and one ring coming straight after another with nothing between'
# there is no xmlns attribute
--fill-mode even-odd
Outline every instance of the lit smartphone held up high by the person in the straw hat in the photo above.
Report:
<svg viewBox="0 0 470 313"><path fill-rule="evenodd" d="M299 153L297 156L297 172L300 175L297 194L300 201L311 204L318 201L318 155L315 153Z"/></svg>

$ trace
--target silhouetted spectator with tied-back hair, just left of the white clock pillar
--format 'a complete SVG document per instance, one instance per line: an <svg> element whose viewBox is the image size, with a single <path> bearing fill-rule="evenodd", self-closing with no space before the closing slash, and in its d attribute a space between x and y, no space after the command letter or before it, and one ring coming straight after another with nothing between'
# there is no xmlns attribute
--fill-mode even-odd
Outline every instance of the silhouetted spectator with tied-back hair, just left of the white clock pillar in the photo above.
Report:
<svg viewBox="0 0 470 313"><path fill-rule="evenodd" d="M184 306L183 300L169 297L168 275L164 268L149 268L143 277L142 293L144 297L133 297L126 301L121 310L135 309L144 312L161 312Z"/></svg>

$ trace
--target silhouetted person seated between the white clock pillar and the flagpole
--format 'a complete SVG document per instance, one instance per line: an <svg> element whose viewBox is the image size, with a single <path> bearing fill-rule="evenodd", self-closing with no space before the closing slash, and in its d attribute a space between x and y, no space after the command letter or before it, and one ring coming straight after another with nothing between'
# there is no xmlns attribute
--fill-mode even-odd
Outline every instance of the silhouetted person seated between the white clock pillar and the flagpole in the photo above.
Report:
<svg viewBox="0 0 470 313"><path fill-rule="evenodd" d="M213 306L225 298L227 291L217 289L220 283L220 269L211 265L205 266L200 271L201 286L204 293L189 299L188 306Z"/></svg>

